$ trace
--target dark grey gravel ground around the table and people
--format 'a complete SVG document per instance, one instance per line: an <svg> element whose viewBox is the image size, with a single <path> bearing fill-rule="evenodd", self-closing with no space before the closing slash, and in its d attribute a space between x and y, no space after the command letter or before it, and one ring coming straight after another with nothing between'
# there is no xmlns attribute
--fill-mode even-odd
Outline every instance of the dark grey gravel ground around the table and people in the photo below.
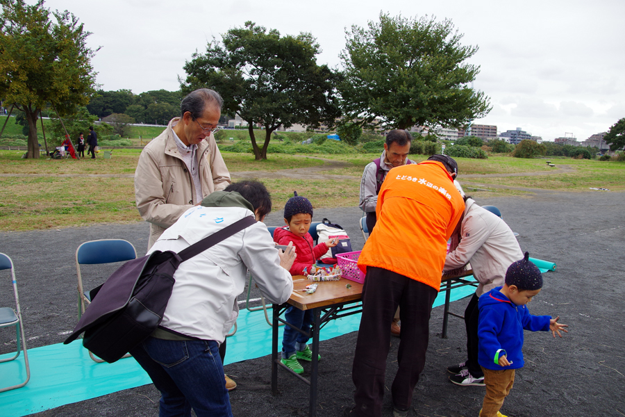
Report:
<svg viewBox="0 0 625 417"><path fill-rule="evenodd" d="M503 213L519 233L522 250L558 266L544 275L544 288L529 304L534 314L559 315L569 327L564 338L550 333L525 335L526 366L501 410L509 417L625 416L625 320L622 300L625 280L622 263L624 226L623 193L535 193L526 197L481 198ZM360 250L364 239L358 229L357 207L319 209L314 220L328 218L342 224ZM281 211L267 218L268 225L282 224ZM0 252L15 262L28 347L60 343L76 324L76 267L74 252L80 243L100 238L124 238L144 254L147 224L96 224L59 231L0 233ZM397 230L401 238L401 227ZM83 272L99 283L110 268ZM89 284L86 285L89 288ZM254 296L254 294L253 294ZM0 296L0 305L10 300ZM244 294L240 296L242 300ZM453 302L462 313L468 299ZM260 312L259 312L260 313ZM409 416L477 416L483 387L459 387L447 379L445 368L464 360L465 329L462 320L450 318L449 336L440 338L442 306L433 310L426 368L417 384ZM0 334L0 352L10 336ZM319 416L340 416L353 404L351 364L357 332L320 345ZM387 386L397 369L399 338L392 338L387 359ZM309 375L310 366L304 365ZM226 373L238 382L231 392L235 416L307 416L308 388L290 375L278 373L280 392L270 386L270 357L233 363ZM384 416L392 415L389 395ZM101 398L69 404L35 416L158 416L159 394L152 385L120 391Z"/></svg>

